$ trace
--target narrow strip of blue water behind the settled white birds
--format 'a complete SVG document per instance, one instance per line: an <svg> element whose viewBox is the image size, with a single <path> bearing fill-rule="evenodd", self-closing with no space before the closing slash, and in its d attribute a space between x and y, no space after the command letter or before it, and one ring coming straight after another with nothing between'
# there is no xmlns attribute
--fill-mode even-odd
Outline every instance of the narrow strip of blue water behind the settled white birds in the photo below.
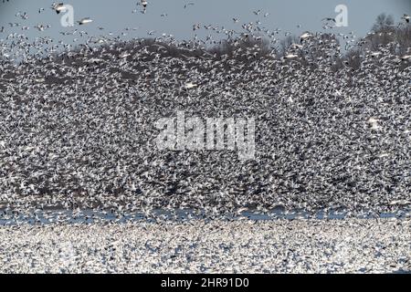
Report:
<svg viewBox="0 0 411 292"><path fill-rule="evenodd" d="M209 216L202 213L195 212L194 210L175 210L174 212L164 210L154 210L150 217L145 216L142 213L136 212L134 214L124 214L117 216L110 212L97 212L93 210L83 210L81 212L74 213L67 210L51 210L44 212L37 212L33 214L19 214L15 215L12 212L0 210L0 226L5 225L17 225L17 224L93 224L93 223L117 223L125 224L131 222L145 221L147 223L155 223L156 218L166 221L184 222L189 220L252 220L252 221L271 221L271 220L298 220L298 219L317 219L317 220L343 220L351 218L345 211L320 211L315 214L295 210L292 212L285 212L284 210L272 210L267 214L260 214L254 211L245 211L238 215L227 214L224 216ZM389 219L397 218L404 219L411 217L411 210L400 210L396 213L382 213L376 216L371 213L364 213L355 216L359 219Z"/></svg>

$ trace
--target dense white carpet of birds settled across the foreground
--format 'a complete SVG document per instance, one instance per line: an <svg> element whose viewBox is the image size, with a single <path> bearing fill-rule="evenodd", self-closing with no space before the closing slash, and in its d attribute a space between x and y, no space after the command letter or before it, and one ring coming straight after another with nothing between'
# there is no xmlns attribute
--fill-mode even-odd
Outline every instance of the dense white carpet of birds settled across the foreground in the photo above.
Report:
<svg viewBox="0 0 411 292"><path fill-rule="evenodd" d="M411 272L411 221L0 227L0 273Z"/></svg>

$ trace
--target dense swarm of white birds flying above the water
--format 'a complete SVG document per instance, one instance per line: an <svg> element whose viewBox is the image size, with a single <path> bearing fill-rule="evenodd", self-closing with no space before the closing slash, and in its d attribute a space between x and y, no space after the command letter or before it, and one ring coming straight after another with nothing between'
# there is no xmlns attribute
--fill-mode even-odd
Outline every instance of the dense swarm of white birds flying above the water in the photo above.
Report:
<svg viewBox="0 0 411 292"><path fill-rule="evenodd" d="M145 12L147 1L141 5ZM59 14L64 4L52 8ZM353 34L305 32L279 57L272 46L280 29L256 22L242 32L195 30L202 27L226 35L230 41L221 44L231 50L207 50L216 44L211 35L125 42L75 30L87 37L79 47L7 36L0 45L0 215L409 209L409 47L393 41L366 51L358 69L334 71L338 37L354 46ZM177 110L255 118L256 159L159 151L155 121Z"/></svg>

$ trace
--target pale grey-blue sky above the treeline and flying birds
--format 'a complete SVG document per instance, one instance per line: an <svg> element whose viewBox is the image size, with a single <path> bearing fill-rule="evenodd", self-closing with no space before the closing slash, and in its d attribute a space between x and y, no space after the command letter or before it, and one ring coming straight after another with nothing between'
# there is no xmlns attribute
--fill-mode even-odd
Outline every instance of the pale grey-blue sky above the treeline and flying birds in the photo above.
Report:
<svg viewBox="0 0 411 292"><path fill-rule="evenodd" d="M112 32L120 35L124 28L137 27L128 32L125 38L145 37L149 31L155 31L153 36L171 34L177 39L191 39L197 34L200 38L210 34L204 28L193 31L194 24L224 26L227 29L242 31L241 25L260 21L269 30L280 28L292 34L299 35L304 31L321 31L324 17L335 17L336 5L346 5L348 8L348 27L333 28L336 33L354 32L356 36L364 36L373 26L375 17L386 13L399 22L404 14L411 15L411 0L148 0L146 14L142 14L142 6L136 5L139 0L67 0L65 4L74 7L74 19L90 17L93 22L86 26L63 27L58 16L50 6L49 0L0 0L0 28L5 26L5 32L0 33L0 39L13 32L24 33L29 37L50 36L63 39L60 32L79 29L89 36L103 36ZM192 2L195 5L184 5ZM41 14L38 9L44 7ZM137 9L137 13L132 13ZM261 11L256 16L253 11ZM18 12L26 12L28 19L16 16ZM269 16L264 17L264 14ZM161 16L166 14L167 16ZM239 19L234 23L233 17ZM21 26L31 26L22 31L21 26L10 27L9 23L20 23ZM33 26L50 25L46 31L38 31ZM300 25L300 27L298 27ZM98 27L103 27L100 30Z"/></svg>

